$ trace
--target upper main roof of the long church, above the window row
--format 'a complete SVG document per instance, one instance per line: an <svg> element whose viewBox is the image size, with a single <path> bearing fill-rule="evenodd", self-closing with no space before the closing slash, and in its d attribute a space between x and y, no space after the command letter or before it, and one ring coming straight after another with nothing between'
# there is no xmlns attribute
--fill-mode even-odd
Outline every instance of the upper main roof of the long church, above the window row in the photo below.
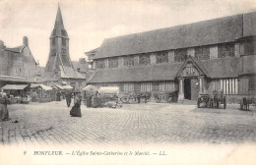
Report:
<svg viewBox="0 0 256 165"><path fill-rule="evenodd" d="M254 18L256 12L106 38L94 59L232 42L243 29L256 35Z"/></svg>

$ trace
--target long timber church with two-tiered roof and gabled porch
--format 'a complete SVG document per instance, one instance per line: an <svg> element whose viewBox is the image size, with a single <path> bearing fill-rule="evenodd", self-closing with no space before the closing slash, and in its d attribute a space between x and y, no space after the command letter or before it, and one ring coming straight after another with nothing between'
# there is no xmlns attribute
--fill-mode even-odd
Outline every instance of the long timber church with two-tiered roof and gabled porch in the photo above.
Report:
<svg viewBox="0 0 256 165"><path fill-rule="evenodd" d="M256 94L256 13L106 38L88 83L123 92L178 90L178 100Z"/></svg>

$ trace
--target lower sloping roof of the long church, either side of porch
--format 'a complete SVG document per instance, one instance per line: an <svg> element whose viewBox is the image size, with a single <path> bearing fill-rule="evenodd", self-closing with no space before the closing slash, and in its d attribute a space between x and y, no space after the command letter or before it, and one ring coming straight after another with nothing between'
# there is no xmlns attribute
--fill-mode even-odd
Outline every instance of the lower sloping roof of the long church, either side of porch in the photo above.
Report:
<svg viewBox="0 0 256 165"><path fill-rule="evenodd" d="M184 62L97 70L88 83L127 83L174 81ZM241 58L230 57L197 61L211 79L237 78L241 74Z"/></svg>

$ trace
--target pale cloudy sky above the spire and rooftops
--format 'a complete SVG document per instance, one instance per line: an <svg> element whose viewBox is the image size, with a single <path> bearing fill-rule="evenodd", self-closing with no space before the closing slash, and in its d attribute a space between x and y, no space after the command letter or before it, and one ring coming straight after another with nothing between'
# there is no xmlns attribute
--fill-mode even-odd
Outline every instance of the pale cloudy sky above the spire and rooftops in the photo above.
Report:
<svg viewBox="0 0 256 165"><path fill-rule="evenodd" d="M16 47L28 36L34 59L44 67L58 3L73 61L104 38L256 11L254 0L0 0L0 40Z"/></svg>

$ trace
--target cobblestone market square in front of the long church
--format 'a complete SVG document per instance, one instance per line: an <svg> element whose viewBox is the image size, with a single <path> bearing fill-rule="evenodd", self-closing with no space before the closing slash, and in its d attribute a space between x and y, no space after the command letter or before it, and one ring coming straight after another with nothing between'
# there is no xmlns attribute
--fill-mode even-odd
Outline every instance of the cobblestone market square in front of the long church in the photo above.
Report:
<svg viewBox="0 0 256 165"><path fill-rule="evenodd" d="M256 141L255 110L231 105L225 110L167 103L123 104L116 109L82 105L82 118L70 117L65 101L8 108L11 119L0 122L1 145Z"/></svg>

